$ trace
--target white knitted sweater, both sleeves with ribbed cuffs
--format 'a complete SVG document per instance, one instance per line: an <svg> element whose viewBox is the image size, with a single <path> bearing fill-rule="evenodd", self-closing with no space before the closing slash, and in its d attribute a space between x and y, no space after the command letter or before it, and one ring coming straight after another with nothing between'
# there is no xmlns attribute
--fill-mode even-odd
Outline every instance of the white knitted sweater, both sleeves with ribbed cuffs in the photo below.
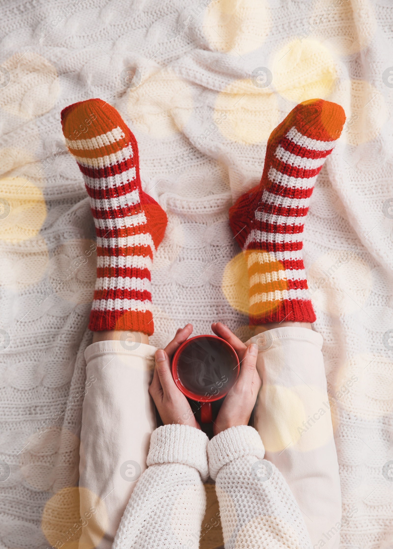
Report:
<svg viewBox="0 0 393 549"><path fill-rule="evenodd" d="M113 549L198 549L208 473L216 480L226 549L311 549L295 498L264 455L259 434L246 425L210 441L187 425L159 427Z"/></svg>

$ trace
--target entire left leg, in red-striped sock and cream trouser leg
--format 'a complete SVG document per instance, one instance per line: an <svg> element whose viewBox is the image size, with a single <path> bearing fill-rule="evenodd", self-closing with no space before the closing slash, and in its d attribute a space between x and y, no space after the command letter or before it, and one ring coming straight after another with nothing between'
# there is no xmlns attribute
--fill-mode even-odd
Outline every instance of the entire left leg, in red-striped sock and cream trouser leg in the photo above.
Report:
<svg viewBox="0 0 393 549"><path fill-rule="evenodd" d="M75 103L62 111L61 124L97 233L89 322L94 335L85 353L87 379L94 382L82 411L80 543L109 548L146 467L156 426L148 393L155 352L148 339L154 330L150 270L167 219L142 191L136 139L113 107L100 99Z"/></svg>

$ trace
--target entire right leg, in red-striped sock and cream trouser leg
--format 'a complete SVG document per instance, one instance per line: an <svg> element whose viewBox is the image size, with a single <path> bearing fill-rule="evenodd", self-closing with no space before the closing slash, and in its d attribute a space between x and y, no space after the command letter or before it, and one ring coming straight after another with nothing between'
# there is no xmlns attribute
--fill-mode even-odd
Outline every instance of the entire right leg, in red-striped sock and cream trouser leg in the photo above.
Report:
<svg viewBox="0 0 393 549"><path fill-rule="evenodd" d="M262 378L254 424L287 480L312 544L339 543L341 494L322 357L302 260L313 186L345 122L335 103L297 105L272 132L261 183L229 210L248 262L251 326ZM321 541L322 540L322 541Z"/></svg>

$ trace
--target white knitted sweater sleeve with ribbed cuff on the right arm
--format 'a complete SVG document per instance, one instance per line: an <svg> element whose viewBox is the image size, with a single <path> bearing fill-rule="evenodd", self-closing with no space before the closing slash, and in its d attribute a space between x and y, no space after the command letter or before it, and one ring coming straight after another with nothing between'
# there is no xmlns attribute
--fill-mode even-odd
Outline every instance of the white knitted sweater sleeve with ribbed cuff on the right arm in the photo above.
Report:
<svg viewBox="0 0 393 549"><path fill-rule="evenodd" d="M311 547L295 498L279 470L263 459L265 449L254 428L239 425L221 432L209 441L207 455L225 549Z"/></svg>

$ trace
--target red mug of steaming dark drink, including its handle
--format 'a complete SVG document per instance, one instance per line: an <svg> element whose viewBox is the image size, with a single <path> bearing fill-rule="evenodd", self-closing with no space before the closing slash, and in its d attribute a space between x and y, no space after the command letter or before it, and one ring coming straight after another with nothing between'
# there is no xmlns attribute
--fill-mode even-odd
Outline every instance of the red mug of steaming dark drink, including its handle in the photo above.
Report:
<svg viewBox="0 0 393 549"><path fill-rule="evenodd" d="M173 381L183 395L201 403L202 423L212 422L211 402L228 394L239 373L235 350L216 335L187 339L172 359Z"/></svg>

